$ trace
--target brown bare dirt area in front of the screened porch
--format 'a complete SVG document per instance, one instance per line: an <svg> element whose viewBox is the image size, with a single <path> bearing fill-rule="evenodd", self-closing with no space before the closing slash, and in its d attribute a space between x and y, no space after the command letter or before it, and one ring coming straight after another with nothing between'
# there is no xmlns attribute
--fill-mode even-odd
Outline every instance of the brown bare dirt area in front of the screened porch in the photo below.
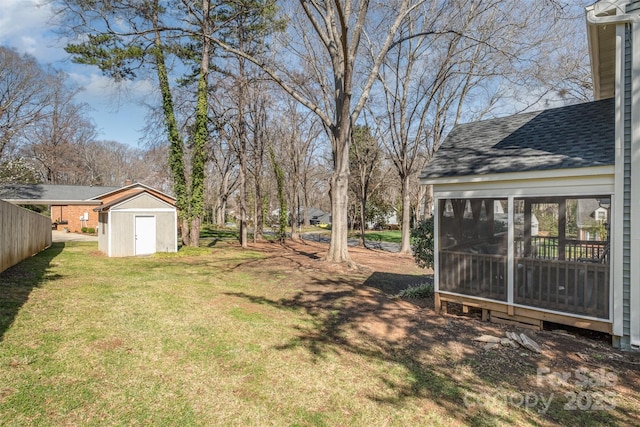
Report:
<svg viewBox="0 0 640 427"><path fill-rule="evenodd" d="M438 366L480 396L501 389L560 396L554 420L546 419L550 425L572 424L564 417L576 415L571 412L576 408L624 406L615 416L593 412L594 421L605 424L624 425L640 417L640 353L614 349L606 334L554 324L543 331L499 325L482 321L479 311L463 314L455 305L449 314L437 315L432 299L398 297L408 286L432 280L432 272L418 268L410 255L350 248L357 268L349 269L323 261L327 245L322 243L259 243L251 249L265 257L237 268L278 273L295 283L299 293L278 303L318 319L320 326L301 336L313 352L329 342L359 353L374 346L389 357L409 358L408 365L416 369ZM488 350L486 343L474 340L487 334L504 338L508 331L526 334L542 352L508 346Z"/></svg>

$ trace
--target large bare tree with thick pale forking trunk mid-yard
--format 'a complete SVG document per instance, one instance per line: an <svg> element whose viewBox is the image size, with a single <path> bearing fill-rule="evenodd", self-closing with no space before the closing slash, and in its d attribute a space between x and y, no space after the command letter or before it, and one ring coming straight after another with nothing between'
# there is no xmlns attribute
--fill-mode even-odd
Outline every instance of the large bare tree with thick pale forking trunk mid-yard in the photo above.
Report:
<svg viewBox="0 0 640 427"><path fill-rule="evenodd" d="M303 31L301 60L317 71L312 78L320 89L322 102L308 96L305 85L299 85L296 75L268 64L256 57L213 37L224 49L259 65L287 93L313 111L322 121L332 145L333 174L331 176L331 244L326 259L351 264L347 245L347 210L349 185L349 146L351 131L365 106L371 87L396 32L417 2L398 0L385 4L369 0L300 0L299 16L306 18L309 31ZM292 15L295 16L295 15ZM386 34L377 44L375 60L356 86L362 57L361 41L367 28ZM290 65L285 63L286 65ZM326 68L323 68L325 67ZM322 68L322 69L321 69ZM299 75L298 75L299 77ZM306 83L306 82L305 82Z"/></svg>

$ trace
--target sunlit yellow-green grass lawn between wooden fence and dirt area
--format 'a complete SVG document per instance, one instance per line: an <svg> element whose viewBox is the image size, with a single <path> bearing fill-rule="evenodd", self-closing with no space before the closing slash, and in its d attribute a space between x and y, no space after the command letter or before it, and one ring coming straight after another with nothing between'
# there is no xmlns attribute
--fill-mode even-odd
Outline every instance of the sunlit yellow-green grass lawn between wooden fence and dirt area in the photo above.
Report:
<svg viewBox="0 0 640 427"><path fill-rule="evenodd" d="M70 242L0 274L2 425L624 425L638 416L637 396L621 399L620 412L567 412L560 401L544 414L509 402L465 410L465 396L517 393L510 375L535 382L536 362L497 369L491 352L471 357L466 339L437 338L450 321L362 286L375 275L286 260L224 241L136 258ZM402 324L410 334L394 332Z"/></svg>

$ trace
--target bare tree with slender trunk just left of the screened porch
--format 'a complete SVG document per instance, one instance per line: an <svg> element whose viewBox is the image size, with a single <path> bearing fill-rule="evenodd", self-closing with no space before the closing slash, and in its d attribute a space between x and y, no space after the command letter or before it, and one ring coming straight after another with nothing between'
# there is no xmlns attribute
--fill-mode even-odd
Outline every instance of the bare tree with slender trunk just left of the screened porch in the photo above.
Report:
<svg viewBox="0 0 640 427"><path fill-rule="evenodd" d="M579 76L578 62L566 61L562 73L542 62L562 56L565 42L559 35L567 31L558 7L557 2L424 2L403 22L370 105L400 182L401 252L411 251L411 210L429 195L429 189L416 191L417 173L452 126L527 109L554 92L569 94L568 87L583 89L559 78Z"/></svg>

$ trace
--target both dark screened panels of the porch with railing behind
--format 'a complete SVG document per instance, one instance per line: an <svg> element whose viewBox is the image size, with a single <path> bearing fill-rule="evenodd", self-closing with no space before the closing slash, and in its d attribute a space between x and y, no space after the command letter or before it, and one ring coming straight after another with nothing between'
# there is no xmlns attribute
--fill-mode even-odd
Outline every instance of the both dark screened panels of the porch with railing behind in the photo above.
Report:
<svg viewBox="0 0 640 427"><path fill-rule="evenodd" d="M511 201L439 200L438 291L609 318L609 196Z"/></svg>

